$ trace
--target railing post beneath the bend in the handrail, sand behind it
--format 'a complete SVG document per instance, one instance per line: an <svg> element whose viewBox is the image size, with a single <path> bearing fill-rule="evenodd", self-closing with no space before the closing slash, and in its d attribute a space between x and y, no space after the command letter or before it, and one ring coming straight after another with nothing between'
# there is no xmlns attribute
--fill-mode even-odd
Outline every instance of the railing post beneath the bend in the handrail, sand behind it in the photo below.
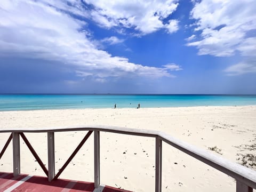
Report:
<svg viewBox="0 0 256 192"><path fill-rule="evenodd" d="M156 183L155 191L162 191L162 140L156 137Z"/></svg>

